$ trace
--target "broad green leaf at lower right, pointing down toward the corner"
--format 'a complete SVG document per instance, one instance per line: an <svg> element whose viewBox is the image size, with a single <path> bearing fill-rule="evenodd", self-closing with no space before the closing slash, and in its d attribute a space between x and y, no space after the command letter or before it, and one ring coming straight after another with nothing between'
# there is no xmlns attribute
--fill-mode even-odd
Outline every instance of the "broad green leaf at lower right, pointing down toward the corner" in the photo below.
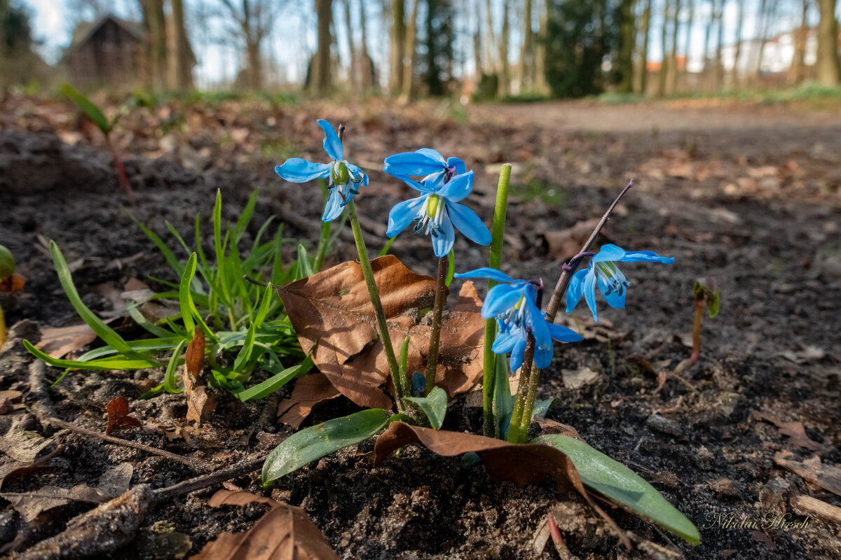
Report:
<svg viewBox="0 0 841 560"><path fill-rule="evenodd" d="M696 526L669 504L651 484L625 465L574 437L549 434L536 437L532 443L549 445L563 451L578 470L581 482L590 489L627 506L690 544L701 542Z"/></svg>

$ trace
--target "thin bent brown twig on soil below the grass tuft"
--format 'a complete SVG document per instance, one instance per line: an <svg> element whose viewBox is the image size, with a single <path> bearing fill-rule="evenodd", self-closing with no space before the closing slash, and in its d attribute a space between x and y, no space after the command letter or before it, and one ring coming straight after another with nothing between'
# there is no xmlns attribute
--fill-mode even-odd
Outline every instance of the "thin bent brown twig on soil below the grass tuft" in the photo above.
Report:
<svg viewBox="0 0 841 560"><path fill-rule="evenodd" d="M58 417L56 407L53 406L52 400L50 399L50 394L47 392L44 374L45 367L43 362L37 360L32 364L29 364L29 410L32 411L32 414L38 418L41 424L52 427L61 427L66 430L70 430L71 432L80 433L83 436L101 439L103 442L124 445L125 447L134 447L135 449L140 449L140 451L145 451L146 453L151 453L153 455L171 459L172 461L177 461L178 463L183 463L188 467L193 468L196 472L206 472L214 469L214 465L212 463L207 463L206 461L202 461L200 459L183 457L182 455L170 453L168 451L164 451L163 449L144 445L143 443L131 442L114 436L107 436L103 433L94 432L93 430L78 427L75 424L61 420L61 418Z"/></svg>

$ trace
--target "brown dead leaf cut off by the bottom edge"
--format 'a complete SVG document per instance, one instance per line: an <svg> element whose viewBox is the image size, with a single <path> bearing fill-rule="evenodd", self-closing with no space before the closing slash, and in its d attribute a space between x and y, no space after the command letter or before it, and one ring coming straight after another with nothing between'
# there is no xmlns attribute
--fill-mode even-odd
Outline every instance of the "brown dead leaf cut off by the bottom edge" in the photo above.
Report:
<svg viewBox="0 0 841 560"><path fill-rule="evenodd" d="M339 560L318 527L294 505L231 490L219 490L209 500L211 507L252 503L272 509L248 531L222 533L190 560Z"/></svg>

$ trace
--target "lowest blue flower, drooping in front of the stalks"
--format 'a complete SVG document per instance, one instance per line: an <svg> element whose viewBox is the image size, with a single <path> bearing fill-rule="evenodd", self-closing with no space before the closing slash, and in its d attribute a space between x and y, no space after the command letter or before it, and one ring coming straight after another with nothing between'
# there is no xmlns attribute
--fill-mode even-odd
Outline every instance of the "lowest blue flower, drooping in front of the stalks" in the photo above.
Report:
<svg viewBox="0 0 841 560"><path fill-rule="evenodd" d="M577 343L582 338L567 327L547 322L537 306L537 285L528 280L514 280L499 270L487 267L457 274L457 278L488 278L504 284L495 285L488 292L482 306L482 317L495 318L498 327L495 353L511 353L511 371L520 369L529 332L534 335L534 364L547 368L552 363L552 339L563 343Z"/></svg>

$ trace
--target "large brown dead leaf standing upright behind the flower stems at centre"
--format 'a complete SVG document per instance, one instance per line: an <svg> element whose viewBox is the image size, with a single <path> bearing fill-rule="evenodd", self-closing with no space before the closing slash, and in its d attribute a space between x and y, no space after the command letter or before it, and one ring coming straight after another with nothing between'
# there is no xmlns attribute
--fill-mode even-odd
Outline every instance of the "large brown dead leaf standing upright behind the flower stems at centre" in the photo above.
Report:
<svg viewBox="0 0 841 560"><path fill-rule="evenodd" d="M421 310L435 299L435 280L407 269L392 255L371 263L389 322L392 343L410 336L408 371L422 369L430 327ZM389 365L378 340L376 318L362 270L356 262L279 287L301 347L309 353L319 343L314 361L336 390L360 406L390 408L383 392ZM465 283L458 302L444 317L438 385L448 392L468 390L481 376L481 300L472 283Z"/></svg>

